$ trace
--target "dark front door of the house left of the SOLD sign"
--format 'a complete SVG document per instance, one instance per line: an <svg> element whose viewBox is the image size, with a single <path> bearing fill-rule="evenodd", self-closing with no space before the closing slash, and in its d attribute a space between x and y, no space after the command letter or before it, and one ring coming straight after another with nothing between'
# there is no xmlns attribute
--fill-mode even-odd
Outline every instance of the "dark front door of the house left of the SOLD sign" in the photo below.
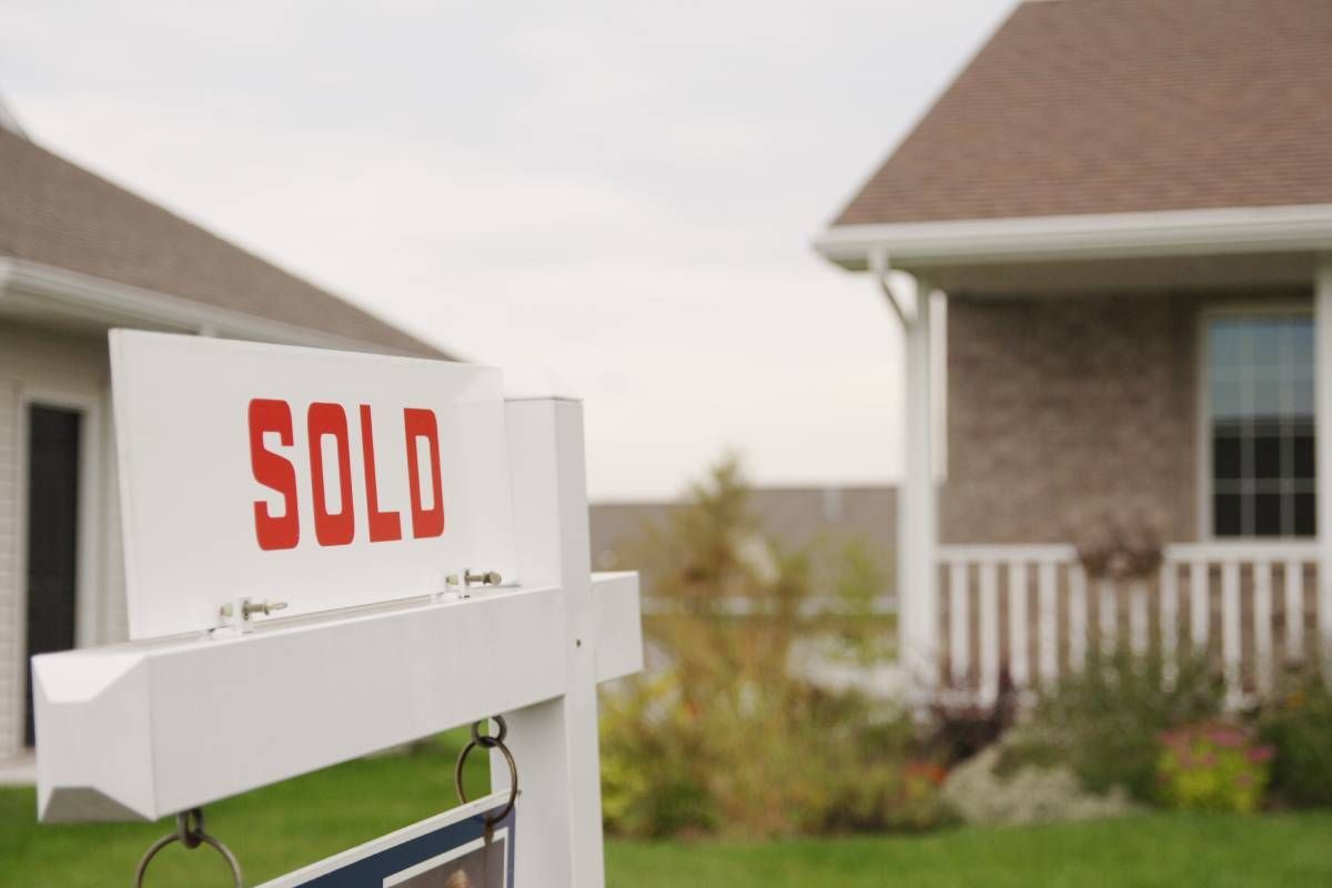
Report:
<svg viewBox="0 0 1332 888"><path fill-rule="evenodd" d="M75 646L79 435L75 410L28 409L28 656ZM25 743L33 746L32 671Z"/></svg>

